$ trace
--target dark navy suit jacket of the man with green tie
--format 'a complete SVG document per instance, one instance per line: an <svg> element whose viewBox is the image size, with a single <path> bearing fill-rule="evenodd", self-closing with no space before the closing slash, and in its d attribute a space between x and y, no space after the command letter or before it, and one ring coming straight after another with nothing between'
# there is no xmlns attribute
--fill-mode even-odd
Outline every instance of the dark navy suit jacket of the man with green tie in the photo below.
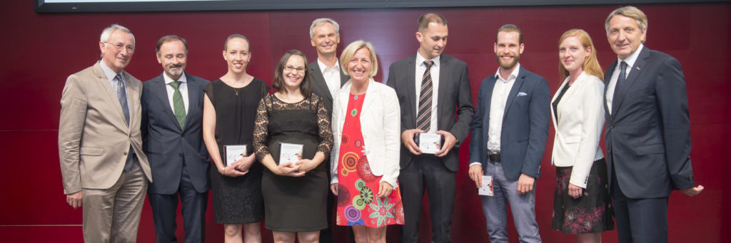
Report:
<svg viewBox="0 0 731 243"><path fill-rule="evenodd" d="M170 108L163 74L143 83L143 150L150 161L152 177L155 179L148 188L151 193L173 194L178 191L183 164L187 167L197 192L205 193L211 188L208 178L211 159L208 157L202 133L203 90L208 85L208 80L184 74L188 86L189 107L183 128Z"/></svg>

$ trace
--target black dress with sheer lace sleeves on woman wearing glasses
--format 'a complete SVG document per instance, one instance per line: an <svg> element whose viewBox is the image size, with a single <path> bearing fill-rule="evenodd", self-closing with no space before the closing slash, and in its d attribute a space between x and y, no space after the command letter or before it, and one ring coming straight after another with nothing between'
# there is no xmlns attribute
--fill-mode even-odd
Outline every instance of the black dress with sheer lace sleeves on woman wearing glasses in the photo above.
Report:
<svg viewBox="0 0 731 243"><path fill-rule="evenodd" d="M303 101L287 103L273 94L257 109L254 149L261 161L271 155L279 163L280 142L303 144L303 157L330 154L333 132L322 98L311 94ZM264 170L262 193L265 202L265 227L272 231L303 232L327 228L325 205L329 181L323 161L303 177L287 177Z"/></svg>

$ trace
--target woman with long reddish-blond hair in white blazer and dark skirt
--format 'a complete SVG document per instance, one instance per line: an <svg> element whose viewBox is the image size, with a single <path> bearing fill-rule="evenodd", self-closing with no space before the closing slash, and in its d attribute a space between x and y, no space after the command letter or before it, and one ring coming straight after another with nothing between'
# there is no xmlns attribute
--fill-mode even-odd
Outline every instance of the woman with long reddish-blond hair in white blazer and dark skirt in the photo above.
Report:
<svg viewBox="0 0 731 243"><path fill-rule="evenodd" d="M551 101L552 163L556 192L551 228L575 234L578 242L601 242L614 228L607 190L607 162L599 139L604 128L604 82L586 31L566 31L558 41L561 87Z"/></svg>

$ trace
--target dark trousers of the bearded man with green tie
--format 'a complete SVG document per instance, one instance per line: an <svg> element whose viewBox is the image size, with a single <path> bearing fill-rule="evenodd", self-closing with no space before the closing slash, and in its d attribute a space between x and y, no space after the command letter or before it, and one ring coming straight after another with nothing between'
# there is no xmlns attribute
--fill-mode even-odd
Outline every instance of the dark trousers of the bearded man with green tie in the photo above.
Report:
<svg viewBox="0 0 731 243"><path fill-rule="evenodd" d="M199 193L193 188L185 166L177 193L167 195L148 193L157 242L178 242L175 239L178 196L183 204L181 214L185 228L185 242L205 242L205 207L208 204L208 191Z"/></svg>

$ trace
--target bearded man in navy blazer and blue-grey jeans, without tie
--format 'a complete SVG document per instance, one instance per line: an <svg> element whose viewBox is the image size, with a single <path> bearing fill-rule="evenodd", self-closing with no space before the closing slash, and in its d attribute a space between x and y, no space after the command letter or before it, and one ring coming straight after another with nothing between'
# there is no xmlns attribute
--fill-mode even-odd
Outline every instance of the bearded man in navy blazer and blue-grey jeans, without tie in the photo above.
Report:
<svg viewBox="0 0 731 243"><path fill-rule="evenodd" d="M500 67L482 80L469 142L469 177L477 187L492 177L493 196L482 196L490 242L508 242L507 205L520 242L541 242L536 223L535 180L548 139L550 91L545 78L520 66L523 33L498 29L493 45Z"/></svg>

